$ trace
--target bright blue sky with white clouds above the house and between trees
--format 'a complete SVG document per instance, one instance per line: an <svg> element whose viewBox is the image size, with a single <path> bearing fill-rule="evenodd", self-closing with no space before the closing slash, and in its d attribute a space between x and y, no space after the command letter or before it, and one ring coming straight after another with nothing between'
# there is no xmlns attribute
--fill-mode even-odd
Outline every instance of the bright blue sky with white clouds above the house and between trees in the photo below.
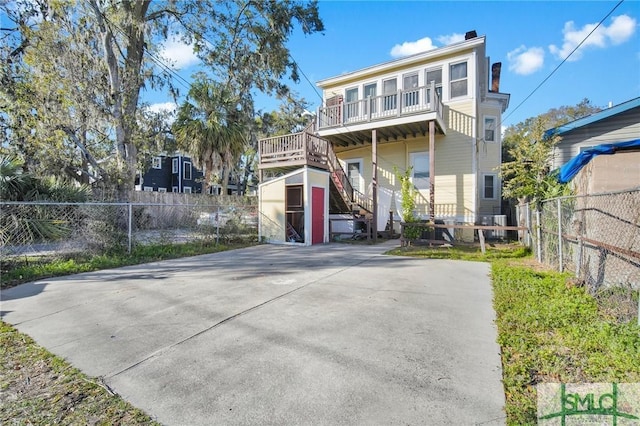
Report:
<svg viewBox="0 0 640 426"><path fill-rule="evenodd" d="M321 104L317 81L442 47L475 30L486 36L491 63L502 62L500 91L511 94L503 127L584 98L603 108L617 105L640 96L640 0L618 3L321 0L325 31L305 35L296 28L288 42L307 77L290 85L315 111ZM171 41L165 47L185 78L199 69L188 46ZM147 93L145 100L154 108L170 105L168 95ZM257 110L278 105L256 96Z"/></svg>

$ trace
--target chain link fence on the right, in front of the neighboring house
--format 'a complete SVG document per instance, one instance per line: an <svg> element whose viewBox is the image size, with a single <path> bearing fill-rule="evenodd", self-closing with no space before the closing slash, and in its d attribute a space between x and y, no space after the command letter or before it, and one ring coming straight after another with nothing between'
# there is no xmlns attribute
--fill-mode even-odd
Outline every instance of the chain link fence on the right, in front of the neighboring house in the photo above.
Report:
<svg viewBox="0 0 640 426"><path fill-rule="evenodd" d="M640 189L528 205L530 245L538 261L575 275L612 315L635 317L640 290ZM637 296L635 296L637 297Z"/></svg>

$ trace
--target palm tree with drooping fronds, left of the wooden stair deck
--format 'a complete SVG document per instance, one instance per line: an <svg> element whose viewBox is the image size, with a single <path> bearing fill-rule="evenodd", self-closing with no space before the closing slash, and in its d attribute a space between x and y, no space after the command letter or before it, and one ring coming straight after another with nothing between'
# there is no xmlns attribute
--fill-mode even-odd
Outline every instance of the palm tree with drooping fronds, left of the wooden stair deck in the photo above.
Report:
<svg viewBox="0 0 640 426"><path fill-rule="evenodd" d="M214 171L222 171L222 190L227 192L231 169L246 145L245 126L238 98L225 86L199 78L178 109L173 124L178 147L203 168L204 189L209 191Z"/></svg>

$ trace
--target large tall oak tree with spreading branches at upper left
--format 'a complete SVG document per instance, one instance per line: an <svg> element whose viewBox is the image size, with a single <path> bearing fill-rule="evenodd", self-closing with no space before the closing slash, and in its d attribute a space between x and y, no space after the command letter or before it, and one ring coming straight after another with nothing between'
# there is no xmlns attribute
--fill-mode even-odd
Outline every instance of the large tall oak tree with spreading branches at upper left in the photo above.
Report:
<svg viewBox="0 0 640 426"><path fill-rule="evenodd" d="M286 95L283 79L298 79L286 46L295 27L323 30L316 2L18 0L1 7L9 18L0 49L3 150L31 159L54 147L49 158L68 174L92 173L121 198L133 188L147 141L141 90L176 93L171 72L158 65L164 41L179 36L194 45L210 77L252 114L255 90ZM65 164L69 157L81 160Z"/></svg>

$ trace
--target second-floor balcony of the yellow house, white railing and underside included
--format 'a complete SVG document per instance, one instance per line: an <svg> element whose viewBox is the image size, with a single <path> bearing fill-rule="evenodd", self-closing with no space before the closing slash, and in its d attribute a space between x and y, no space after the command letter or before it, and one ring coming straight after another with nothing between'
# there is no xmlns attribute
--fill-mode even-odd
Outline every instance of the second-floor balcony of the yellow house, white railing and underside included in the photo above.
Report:
<svg viewBox="0 0 640 426"><path fill-rule="evenodd" d="M443 105L435 85L369 97L353 102L320 107L318 134L336 145L354 141L370 142L370 131L377 129L382 140L426 135L428 122L435 121L446 132Z"/></svg>

